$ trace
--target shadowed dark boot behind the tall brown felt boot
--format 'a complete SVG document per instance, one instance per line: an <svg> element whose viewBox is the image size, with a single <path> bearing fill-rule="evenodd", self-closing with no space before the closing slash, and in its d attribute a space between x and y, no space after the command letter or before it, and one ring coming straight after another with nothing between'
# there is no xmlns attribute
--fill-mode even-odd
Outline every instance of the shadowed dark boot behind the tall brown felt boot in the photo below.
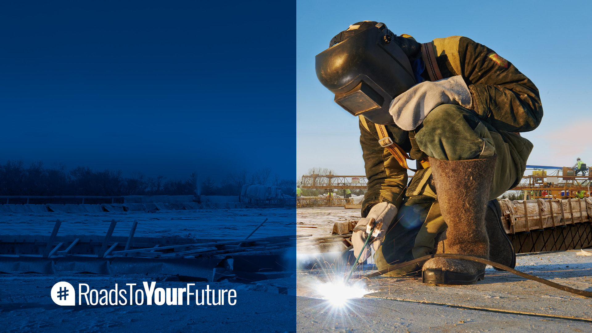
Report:
<svg viewBox="0 0 592 333"><path fill-rule="evenodd" d="M501 224L501 208L497 199L491 200L487 204L485 228L489 238L489 260L510 268L516 267L516 252L504 226ZM500 269L496 268L496 270Z"/></svg>

